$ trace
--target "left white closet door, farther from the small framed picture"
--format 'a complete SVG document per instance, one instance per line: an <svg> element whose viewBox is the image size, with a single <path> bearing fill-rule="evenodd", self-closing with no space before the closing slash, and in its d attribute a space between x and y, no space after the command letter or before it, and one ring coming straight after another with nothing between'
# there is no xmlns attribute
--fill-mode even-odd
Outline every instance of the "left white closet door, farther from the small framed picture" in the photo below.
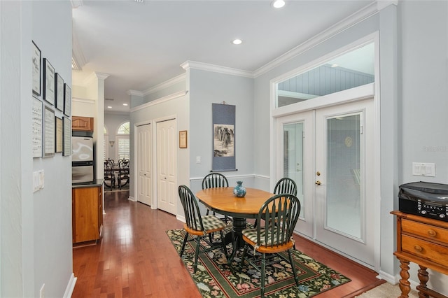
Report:
<svg viewBox="0 0 448 298"><path fill-rule="evenodd" d="M137 127L137 201L151 206L151 125Z"/></svg>

